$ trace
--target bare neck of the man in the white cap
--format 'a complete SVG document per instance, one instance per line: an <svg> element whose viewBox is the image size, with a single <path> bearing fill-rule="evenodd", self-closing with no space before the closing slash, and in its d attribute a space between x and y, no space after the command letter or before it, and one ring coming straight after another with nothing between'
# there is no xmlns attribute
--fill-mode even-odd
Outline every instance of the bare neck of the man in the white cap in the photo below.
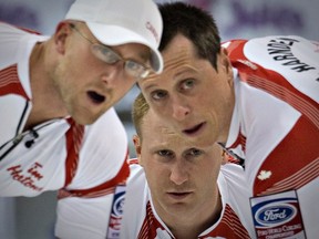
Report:
<svg viewBox="0 0 319 239"><path fill-rule="evenodd" d="M38 42L30 56L30 84L32 92L32 110L24 129L45 121L66 116L50 71L54 69L53 52L50 52L51 42ZM47 56L48 55L48 56Z"/></svg>

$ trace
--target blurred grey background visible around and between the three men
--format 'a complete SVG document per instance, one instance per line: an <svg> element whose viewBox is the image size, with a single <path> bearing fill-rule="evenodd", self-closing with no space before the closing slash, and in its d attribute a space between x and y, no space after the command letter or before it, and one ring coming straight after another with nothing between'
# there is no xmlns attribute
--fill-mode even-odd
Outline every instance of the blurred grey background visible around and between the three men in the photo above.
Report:
<svg viewBox="0 0 319 239"><path fill-rule="evenodd" d="M165 2L165 0L155 1ZM72 2L73 0L0 0L0 21L51 35ZM212 12L223 41L269 34L298 34L319 41L318 0L184 0L184 2ZM132 89L116 105L116 111L127 131L132 157L135 156L135 152L131 138L135 131L131 121L131 106L138 92L137 87ZM55 193L44 193L35 198L0 198L0 239L54 238L55 205Z"/></svg>

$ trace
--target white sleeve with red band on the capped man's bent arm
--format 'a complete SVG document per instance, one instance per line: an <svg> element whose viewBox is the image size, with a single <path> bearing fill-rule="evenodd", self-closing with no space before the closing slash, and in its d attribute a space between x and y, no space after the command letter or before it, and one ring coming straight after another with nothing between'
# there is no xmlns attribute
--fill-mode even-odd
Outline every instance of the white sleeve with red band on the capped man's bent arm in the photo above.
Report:
<svg viewBox="0 0 319 239"><path fill-rule="evenodd" d="M106 237L115 188L128 177L126 160L126 132L111 110L85 128L74 177L59 191L58 238Z"/></svg>

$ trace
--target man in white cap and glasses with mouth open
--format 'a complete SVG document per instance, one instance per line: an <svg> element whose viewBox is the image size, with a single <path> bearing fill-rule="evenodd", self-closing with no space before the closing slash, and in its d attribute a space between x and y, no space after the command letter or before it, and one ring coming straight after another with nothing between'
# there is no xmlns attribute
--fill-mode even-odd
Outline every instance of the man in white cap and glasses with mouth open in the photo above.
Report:
<svg viewBox="0 0 319 239"><path fill-rule="evenodd" d="M119 237L127 139L113 105L162 71L162 28L152 0L75 0L51 38L0 24L0 197L59 190L59 238Z"/></svg>

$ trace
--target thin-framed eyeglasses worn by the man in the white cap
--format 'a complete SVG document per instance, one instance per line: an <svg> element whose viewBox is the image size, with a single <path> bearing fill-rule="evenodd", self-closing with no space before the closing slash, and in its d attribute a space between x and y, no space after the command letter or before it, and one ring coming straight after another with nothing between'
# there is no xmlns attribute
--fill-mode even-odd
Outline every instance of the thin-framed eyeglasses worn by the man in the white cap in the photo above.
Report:
<svg viewBox="0 0 319 239"><path fill-rule="evenodd" d="M151 69L145 66L144 64L135 62L135 61L130 60L130 59L122 58L115 51L113 51L111 48L90 40L74 24L70 23L70 27L71 27L71 29L75 30L82 38L84 38L86 41L89 41L91 43L92 53L97 59L100 59L101 61L103 61L107 64L115 64L119 61L123 61L125 72L137 80L144 79L150 74Z"/></svg>

